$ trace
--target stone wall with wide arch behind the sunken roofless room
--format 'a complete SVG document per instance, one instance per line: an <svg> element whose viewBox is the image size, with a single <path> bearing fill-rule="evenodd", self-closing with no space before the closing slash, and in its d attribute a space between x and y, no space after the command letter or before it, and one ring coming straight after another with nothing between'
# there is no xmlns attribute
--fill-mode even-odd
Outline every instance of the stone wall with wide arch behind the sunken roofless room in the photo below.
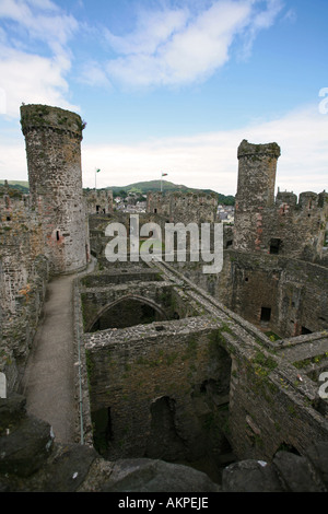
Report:
<svg viewBox="0 0 328 514"><path fill-rule="evenodd" d="M95 322L104 316L110 323L107 328L147 323L148 315L152 317L147 306L155 311L156 319L163 320L201 313L197 303L186 301L183 291L163 280L159 270L151 268L134 266L125 270L118 268L116 272L89 274L81 281L80 290L85 331L90 331ZM143 306L145 313L142 312ZM106 325L106 319L104 323Z"/></svg>

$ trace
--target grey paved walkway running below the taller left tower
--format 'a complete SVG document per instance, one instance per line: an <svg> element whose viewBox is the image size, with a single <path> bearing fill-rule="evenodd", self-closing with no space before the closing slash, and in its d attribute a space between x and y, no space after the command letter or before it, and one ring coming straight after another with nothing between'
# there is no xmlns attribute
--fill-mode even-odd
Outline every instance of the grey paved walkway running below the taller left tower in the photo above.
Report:
<svg viewBox="0 0 328 514"><path fill-rule="evenodd" d="M23 395L31 414L52 427L55 440L73 443L74 400L73 280L54 278L47 284L43 315L24 378Z"/></svg>

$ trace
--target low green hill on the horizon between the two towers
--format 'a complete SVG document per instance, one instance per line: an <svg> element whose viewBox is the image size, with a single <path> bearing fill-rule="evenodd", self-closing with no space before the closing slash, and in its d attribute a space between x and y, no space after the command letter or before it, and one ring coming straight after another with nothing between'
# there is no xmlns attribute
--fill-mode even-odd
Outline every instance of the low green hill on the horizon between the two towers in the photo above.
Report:
<svg viewBox="0 0 328 514"><path fill-rule="evenodd" d="M114 197L120 196L121 191L125 191L126 194L137 192L140 195L147 195L149 191L160 191L161 180L138 182L134 184L129 184L128 186L112 186L107 187L106 189L112 189ZM233 206L235 203L235 197L232 195L225 196L211 189L195 189L192 187L177 185L168 180L162 180L162 190L163 192L206 192L208 195L215 195L218 197L219 203L224 203L227 206Z"/></svg>

